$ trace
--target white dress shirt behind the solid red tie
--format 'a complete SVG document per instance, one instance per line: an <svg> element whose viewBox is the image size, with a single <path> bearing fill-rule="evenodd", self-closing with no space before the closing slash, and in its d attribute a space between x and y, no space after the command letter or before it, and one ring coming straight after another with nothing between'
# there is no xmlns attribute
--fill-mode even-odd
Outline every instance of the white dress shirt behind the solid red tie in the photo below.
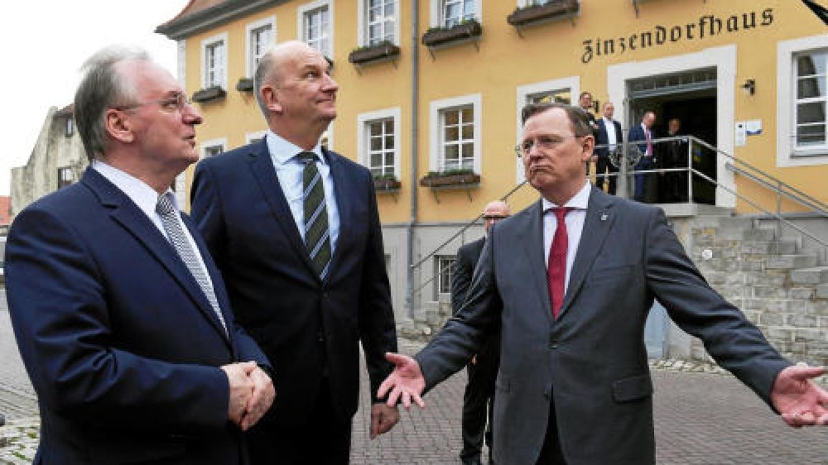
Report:
<svg viewBox="0 0 828 465"><path fill-rule="evenodd" d="M572 209L566 213L566 237L568 239L566 247L566 281L564 282L564 293L569 289L569 278L572 272L572 264L575 263L575 252L578 252L578 244L580 244L580 234L584 232L584 222L586 220L586 207L590 203L590 191L592 185L590 181L584 182L578 194L575 194L565 205L556 205L549 200L542 199L543 202L543 252L544 261L546 261L546 268L549 268L549 249L552 248L552 238L555 237L555 231L558 228L558 220L555 213L550 209L556 207L567 207Z"/></svg>

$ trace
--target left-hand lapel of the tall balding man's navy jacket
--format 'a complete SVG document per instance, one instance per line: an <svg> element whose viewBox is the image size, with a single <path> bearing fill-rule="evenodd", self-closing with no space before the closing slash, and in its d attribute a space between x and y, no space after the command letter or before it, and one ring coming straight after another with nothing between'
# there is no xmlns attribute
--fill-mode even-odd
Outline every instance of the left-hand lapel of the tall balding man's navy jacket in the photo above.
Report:
<svg viewBox="0 0 828 465"><path fill-rule="evenodd" d="M262 141L251 152L250 170L258 182L259 188L262 189L262 195L270 206L273 217L276 218L276 222L282 228L284 237L287 238L288 242L291 242L291 246L299 255L300 260L305 263L310 274L318 277L313 263L310 261L305 242L302 241L299 230L296 228L296 221L293 219L291 207L287 204L282 185L279 184L279 176L276 174L270 153L267 151L267 142Z"/></svg>

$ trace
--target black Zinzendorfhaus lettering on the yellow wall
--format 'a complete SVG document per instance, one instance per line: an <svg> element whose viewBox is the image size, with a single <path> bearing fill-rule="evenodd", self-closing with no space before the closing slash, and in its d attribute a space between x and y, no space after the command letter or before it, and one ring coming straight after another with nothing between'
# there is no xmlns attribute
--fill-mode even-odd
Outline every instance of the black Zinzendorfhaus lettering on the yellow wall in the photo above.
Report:
<svg viewBox="0 0 828 465"><path fill-rule="evenodd" d="M705 15L697 22L676 24L673 26L654 26L646 31L633 32L628 36L613 39L587 39L583 41L584 55L580 60L589 63L596 56L622 55L628 51L663 46L667 43L681 41L700 41L705 38L749 31L757 27L773 24L773 8L762 12L744 12L729 17Z"/></svg>

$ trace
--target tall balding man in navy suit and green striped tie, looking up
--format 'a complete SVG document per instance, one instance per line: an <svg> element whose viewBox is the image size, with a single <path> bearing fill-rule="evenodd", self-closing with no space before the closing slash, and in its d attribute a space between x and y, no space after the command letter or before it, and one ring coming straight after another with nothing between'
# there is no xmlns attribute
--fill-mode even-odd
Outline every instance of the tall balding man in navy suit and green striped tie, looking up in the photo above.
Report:
<svg viewBox="0 0 828 465"><path fill-rule="evenodd" d="M319 142L336 116L329 71L302 42L268 50L254 77L267 136L195 170L193 218L275 368L272 412L250 434L255 463L348 463L360 341L371 437L399 418L374 396L397 335L373 178Z"/></svg>

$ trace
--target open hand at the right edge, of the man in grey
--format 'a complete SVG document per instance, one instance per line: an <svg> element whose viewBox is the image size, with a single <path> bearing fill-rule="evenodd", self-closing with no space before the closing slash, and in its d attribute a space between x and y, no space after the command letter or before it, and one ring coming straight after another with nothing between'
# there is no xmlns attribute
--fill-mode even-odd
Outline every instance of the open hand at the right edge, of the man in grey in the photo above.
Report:
<svg viewBox="0 0 828 465"><path fill-rule="evenodd" d="M828 392L811 378L825 374L822 367L787 367L777 375L771 403L785 423L794 427L828 425Z"/></svg>

